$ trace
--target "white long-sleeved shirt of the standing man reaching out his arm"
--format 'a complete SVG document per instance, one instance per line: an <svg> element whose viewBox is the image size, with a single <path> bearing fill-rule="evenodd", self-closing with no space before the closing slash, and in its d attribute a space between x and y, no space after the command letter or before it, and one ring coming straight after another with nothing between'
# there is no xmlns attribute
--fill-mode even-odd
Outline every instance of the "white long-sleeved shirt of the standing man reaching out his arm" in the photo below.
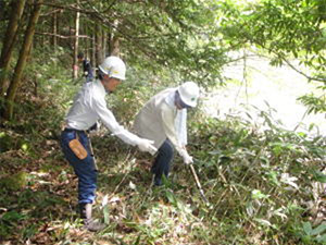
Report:
<svg viewBox="0 0 326 245"><path fill-rule="evenodd" d="M66 115L66 126L85 131L100 119L113 135L129 145L137 145L140 138L116 122L114 114L106 107L105 95L101 81L84 84Z"/></svg>

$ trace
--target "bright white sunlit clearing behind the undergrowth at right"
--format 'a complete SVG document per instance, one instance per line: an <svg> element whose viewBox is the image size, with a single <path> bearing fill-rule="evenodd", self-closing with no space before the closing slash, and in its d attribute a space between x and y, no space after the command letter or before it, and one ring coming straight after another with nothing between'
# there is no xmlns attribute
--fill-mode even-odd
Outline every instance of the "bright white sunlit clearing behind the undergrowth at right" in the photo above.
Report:
<svg viewBox="0 0 326 245"><path fill-rule="evenodd" d="M240 115L253 123L262 123L260 110L271 111L274 120L279 120L287 130L311 134L326 134L325 114L306 114L306 108L297 98L316 91L317 83L306 78L289 66L274 68L263 58L247 60L247 76L243 78L243 62L225 70L226 76L239 81L228 83L204 98L204 110L212 117ZM318 91L321 93L321 91ZM248 114L246 113L248 112Z"/></svg>

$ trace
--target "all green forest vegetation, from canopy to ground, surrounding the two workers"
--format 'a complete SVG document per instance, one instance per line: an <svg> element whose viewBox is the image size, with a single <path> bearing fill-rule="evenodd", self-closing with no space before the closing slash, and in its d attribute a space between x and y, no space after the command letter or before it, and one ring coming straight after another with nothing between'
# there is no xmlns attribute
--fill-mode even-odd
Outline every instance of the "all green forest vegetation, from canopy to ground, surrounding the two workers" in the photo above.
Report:
<svg viewBox="0 0 326 245"><path fill-rule="evenodd" d="M2 53L13 2L0 3ZM41 12L13 101L7 89L17 79L18 44L34 3ZM235 117L208 118L201 106L190 112L189 152L209 204L178 156L171 179L151 188L152 158L101 127L92 136L100 169L96 217L108 226L96 234L80 229L77 180L59 145L66 110L84 83L72 78L75 39L95 66L103 52L118 50L126 61L127 82L108 101L129 128L143 102L166 86L191 78L203 88L223 89L228 79L222 69L246 53L321 83L319 94L301 101L310 112L325 113L325 5L324 0L26 1L9 66L0 62L5 78L0 83L0 243L326 244L325 136L284 130L266 111L254 125ZM72 37L77 12L80 38ZM58 33L54 13L68 23Z"/></svg>

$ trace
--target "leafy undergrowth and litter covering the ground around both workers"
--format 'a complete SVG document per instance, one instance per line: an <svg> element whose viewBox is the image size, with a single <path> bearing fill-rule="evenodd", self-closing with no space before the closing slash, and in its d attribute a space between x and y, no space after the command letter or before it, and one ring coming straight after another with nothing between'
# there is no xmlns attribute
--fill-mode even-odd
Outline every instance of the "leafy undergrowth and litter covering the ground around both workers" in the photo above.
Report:
<svg viewBox="0 0 326 245"><path fill-rule="evenodd" d="M208 205L178 156L164 186L153 188L153 158L101 127L91 136L99 168L95 216L106 228L83 230L77 179L59 143L77 86L48 78L37 94L26 87L15 120L1 124L1 244L326 244L325 137L286 131L264 111L264 131L242 119L190 112L189 152ZM134 93L123 89L113 95L117 101ZM113 111L127 119L141 106L135 96L121 101Z"/></svg>

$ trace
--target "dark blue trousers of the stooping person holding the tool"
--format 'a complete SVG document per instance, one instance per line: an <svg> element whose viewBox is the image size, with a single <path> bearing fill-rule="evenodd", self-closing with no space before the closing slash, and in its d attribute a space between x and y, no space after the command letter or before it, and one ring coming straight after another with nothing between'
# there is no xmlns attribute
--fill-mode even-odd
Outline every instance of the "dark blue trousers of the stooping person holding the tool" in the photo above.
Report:
<svg viewBox="0 0 326 245"><path fill-rule="evenodd" d="M162 146L158 149L158 156L153 162L151 168L151 172L154 176L154 185L162 185L162 175L165 177L168 176L171 162L174 155L173 145L168 139L162 144Z"/></svg>

